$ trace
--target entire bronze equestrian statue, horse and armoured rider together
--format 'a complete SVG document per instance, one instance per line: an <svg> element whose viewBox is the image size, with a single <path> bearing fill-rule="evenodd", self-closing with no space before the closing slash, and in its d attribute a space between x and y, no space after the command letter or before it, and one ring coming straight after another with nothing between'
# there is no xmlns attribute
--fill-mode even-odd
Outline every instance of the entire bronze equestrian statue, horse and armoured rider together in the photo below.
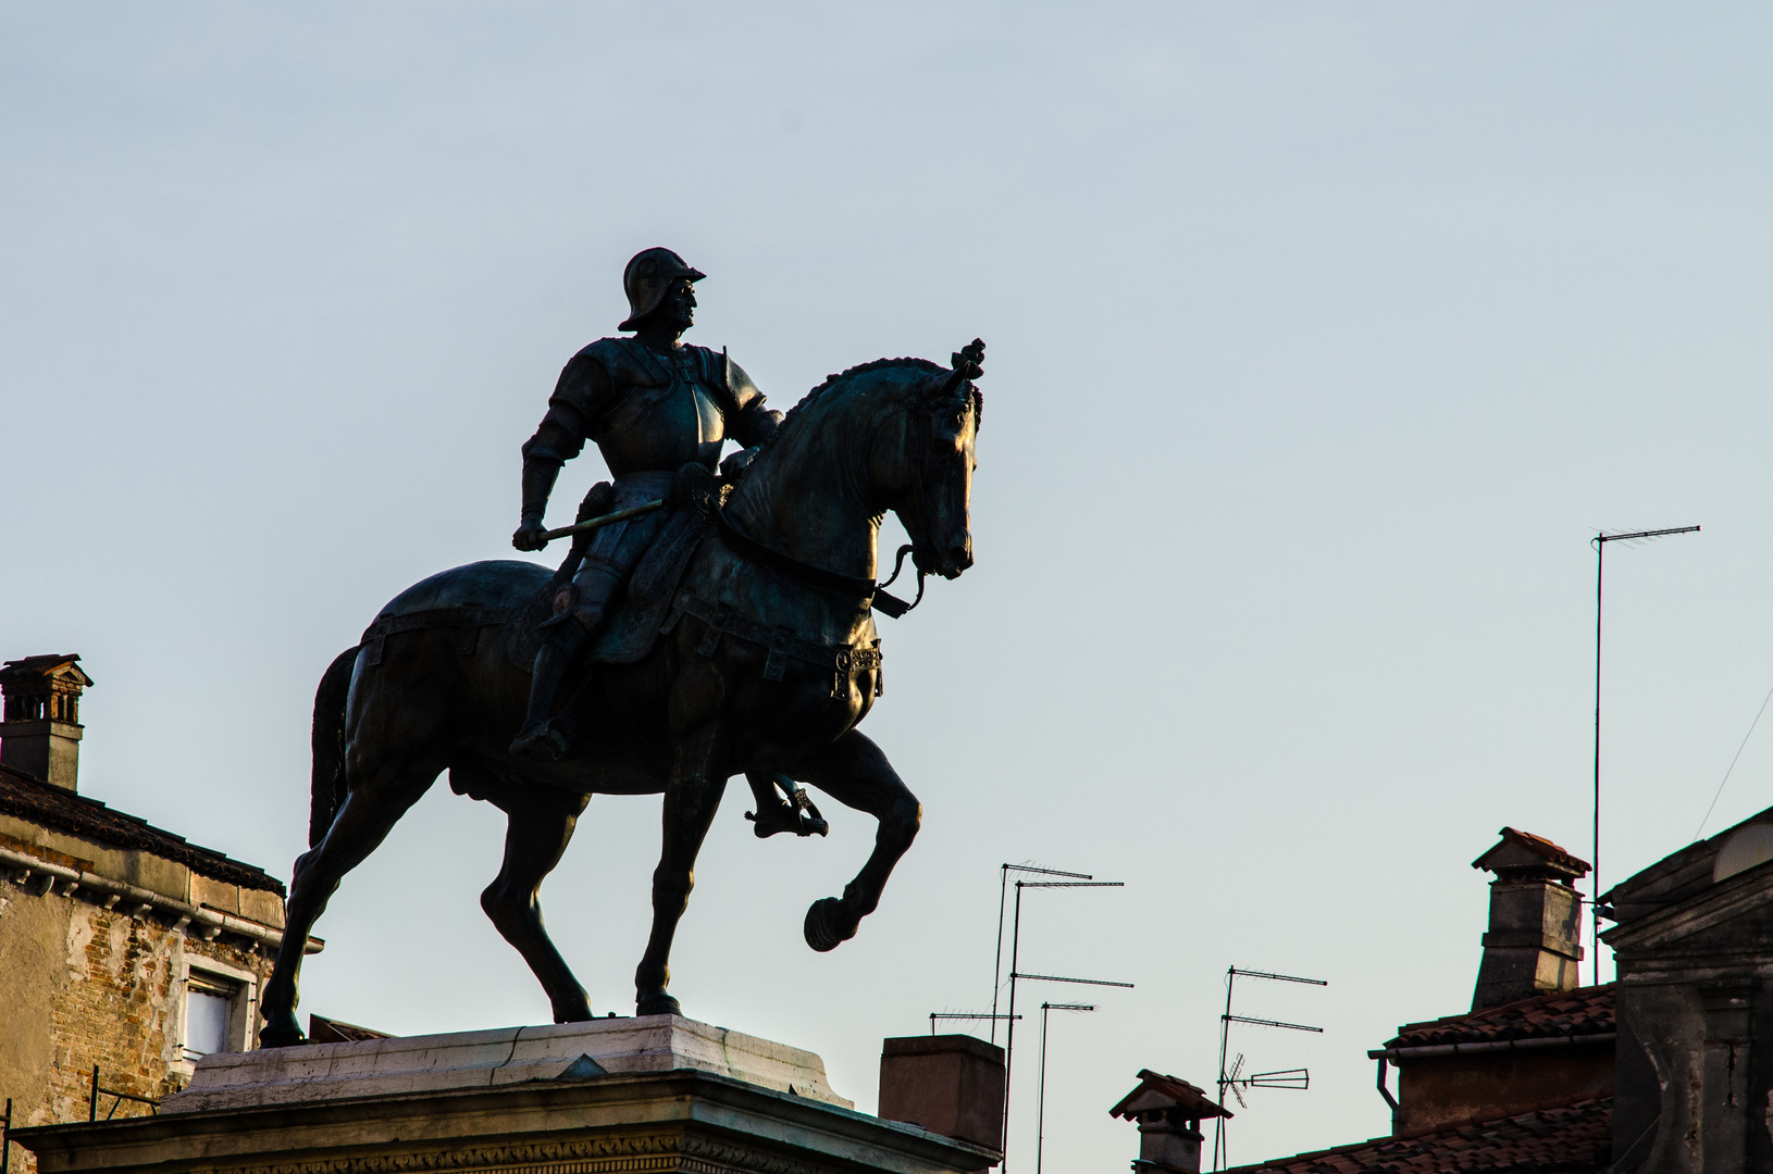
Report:
<svg viewBox="0 0 1773 1174"><path fill-rule="evenodd" d="M582 521L644 499L665 508L576 537L553 574L484 561L431 575L321 678L310 850L289 885L262 1047L301 1043L301 946L340 878L443 770L452 790L507 815L504 866L480 907L535 972L557 1023L592 1015L543 928L537 891L594 793L665 797L637 1015L679 1013L667 992L672 937L736 774L757 795L759 836L821 823L796 781L879 822L844 894L807 910L808 946L833 949L878 907L922 815L856 728L881 691L872 613L908 609L876 583L879 521L892 510L911 537L918 595L926 574L954 579L972 565L984 344L950 367L853 367L782 418L723 352L679 342L700 278L667 250L629 262L622 329L637 338L596 342L567 363L523 446L512 544L544 545L553 480L587 439L613 485L587 494ZM729 437L746 448L716 475Z"/></svg>

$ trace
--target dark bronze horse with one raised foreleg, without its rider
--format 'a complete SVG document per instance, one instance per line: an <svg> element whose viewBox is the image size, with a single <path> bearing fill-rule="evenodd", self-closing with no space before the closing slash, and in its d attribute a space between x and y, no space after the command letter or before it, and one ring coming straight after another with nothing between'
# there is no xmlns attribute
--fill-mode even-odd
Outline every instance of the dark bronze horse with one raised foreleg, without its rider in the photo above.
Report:
<svg viewBox="0 0 1773 1174"><path fill-rule="evenodd" d="M667 992L672 937L734 774L803 781L879 822L844 894L807 910L812 949L855 937L922 818L917 797L856 728L881 687L871 604L904 609L876 595L879 522L892 510L911 537L918 597L926 574L954 579L972 565L968 508L984 405L972 379L982 352L975 340L952 368L878 359L832 375L787 414L730 494L704 498L700 510L681 506L672 524L693 519L695 528L679 577L665 577L663 618L649 620L626 659L592 648L601 662L558 710L573 730L562 761L525 761L507 749L528 696L518 646L558 575L523 561L470 563L395 597L363 643L332 662L314 699L310 850L294 864L261 1047L303 1041L296 981L314 923L344 875L443 770L452 790L509 818L505 859L480 907L535 972L557 1023L592 1013L543 928L537 889L590 795L665 797L637 1015L681 1013ZM661 533L658 545L670 537ZM645 611L637 599L645 575L642 563L631 599L612 616L617 636L624 616Z"/></svg>

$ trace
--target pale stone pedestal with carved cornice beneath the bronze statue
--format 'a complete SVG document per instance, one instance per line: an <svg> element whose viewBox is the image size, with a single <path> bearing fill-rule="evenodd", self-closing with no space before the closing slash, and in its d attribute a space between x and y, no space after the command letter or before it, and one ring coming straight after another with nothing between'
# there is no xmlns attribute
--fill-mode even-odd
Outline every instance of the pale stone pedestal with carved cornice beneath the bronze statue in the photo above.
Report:
<svg viewBox="0 0 1773 1174"><path fill-rule="evenodd" d="M39 1174L965 1174L998 1162L855 1112L810 1052L677 1016L211 1055L158 1117L14 1139Z"/></svg>

